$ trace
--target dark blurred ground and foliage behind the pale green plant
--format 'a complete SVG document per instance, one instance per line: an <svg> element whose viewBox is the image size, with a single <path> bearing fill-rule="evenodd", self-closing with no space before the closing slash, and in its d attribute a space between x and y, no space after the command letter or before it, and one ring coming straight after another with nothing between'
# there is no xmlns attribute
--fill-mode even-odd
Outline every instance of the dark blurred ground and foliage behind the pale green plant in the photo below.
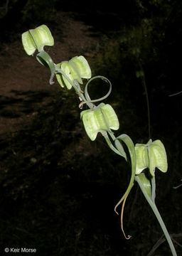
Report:
<svg viewBox="0 0 182 256"><path fill-rule="evenodd" d="M134 144L149 140L146 84L151 139L161 139L168 155L168 172L156 171L156 205L180 243L182 186L173 187L182 178L182 94L169 95L181 92L182 2L14 0L0 8L1 255L5 247L27 247L36 248L36 255L142 256L162 235L135 184L124 210L124 229L132 239L124 240L114 205L127 188L129 166L109 151L100 134L90 142L73 90L60 90L56 83L50 87L49 71L23 52L21 33L43 23L55 41L69 46L63 55L85 55L93 75L111 80L112 95L105 102L119 117L115 134L128 134ZM75 50L70 18L87 28L87 43L97 43ZM59 62L65 60L60 51L56 43L48 49ZM13 76L21 83L7 90ZM33 81L40 89L26 90ZM104 86L92 86L92 97L103 95ZM181 245L175 247L182 255ZM171 255L167 243L154 255Z"/></svg>

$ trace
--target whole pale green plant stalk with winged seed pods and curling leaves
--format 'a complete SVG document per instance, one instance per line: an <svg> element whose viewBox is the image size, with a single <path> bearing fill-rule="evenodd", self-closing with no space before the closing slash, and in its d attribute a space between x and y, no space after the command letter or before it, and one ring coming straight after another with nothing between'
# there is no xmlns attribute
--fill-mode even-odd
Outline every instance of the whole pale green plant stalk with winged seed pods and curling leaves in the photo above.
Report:
<svg viewBox="0 0 182 256"><path fill-rule="evenodd" d="M83 105L87 105L87 107L89 107L89 110L84 110L80 114L88 137L94 141L97 137L97 133L100 132L105 138L109 148L112 149L114 153L124 157L127 162L131 162L131 178L129 185L127 186L127 190L125 191L124 195L114 208L115 212L117 213L117 207L120 205L120 203L122 203L122 232L124 233L124 203L132 187L134 186L134 181L136 181L139 184L139 188L141 188L141 192L144 194L146 201L149 203L149 206L151 206L151 209L156 215L159 224L161 225L161 229L166 236L166 240L168 241L172 255L177 256L171 237L166 229L166 225L164 224L164 221L162 220L159 210L155 204L155 170L157 168L166 173L168 169L164 144L162 144L159 139L154 142L149 139L147 144L136 144L134 146L132 139L127 134L121 134L118 137L114 136L112 129L119 129L119 120L117 119L117 114L114 112L114 109L111 105L105 103L95 105L96 102L105 100L109 96L112 91L111 82L101 75L91 78L92 73L90 66L82 55L75 56L69 61L63 61L58 64L53 63L50 55L43 50L44 46L53 46L54 44L53 37L47 26L42 25L38 28L23 33L22 43L23 48L28 55L33 55L33 53L38 50L38 54L36 55L38 62L50 69L50 85L53 85L53 78L55 77L60 87L66 87L68 90L72 89L73 87L80 99L80 109L82 109ZM82 84L82 78L89 79L85 85L85 92L80 87L80 84ZM95 79L101 79L104 82L107 82L109 85L109 90L103 97L92 100L88 93L88 86L90 85L90 82ZM130 159L128 159L127 154L124 151L122 146L123 143L125 146L127 146ZM146 176L146 171L149 171L149 178ZM127 239L130 238L130 236L127 237L125 233L124 237Z"/></svg>

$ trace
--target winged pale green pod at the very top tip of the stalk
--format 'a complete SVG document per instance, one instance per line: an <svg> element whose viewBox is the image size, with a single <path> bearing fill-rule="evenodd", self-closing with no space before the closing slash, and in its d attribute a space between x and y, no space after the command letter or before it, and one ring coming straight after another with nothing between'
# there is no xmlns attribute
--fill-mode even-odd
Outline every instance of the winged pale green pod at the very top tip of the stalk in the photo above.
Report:
<svg viewBox="0 0 182 256"><path fill-rule="evenodd" d="M32 55L36 50L40 52L44 46L53 46L54 39L46 25L38 26L35 29L26 31L21 36L23 48L28 55Z"/></svg>

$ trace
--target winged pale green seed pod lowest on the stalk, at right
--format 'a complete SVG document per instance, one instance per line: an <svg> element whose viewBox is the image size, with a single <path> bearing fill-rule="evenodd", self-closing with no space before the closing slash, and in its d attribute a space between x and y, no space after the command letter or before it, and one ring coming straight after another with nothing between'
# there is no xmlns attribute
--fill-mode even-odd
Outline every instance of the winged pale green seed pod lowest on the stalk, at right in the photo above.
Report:
<svg viewBox="0 0 182 256"><path fill-rule="evenodd" d="M150 139L147 144L136 144L135 151L137 156L136 174L140 174L146 168L149 168L151 176L154 176L155 168L162 172L167 171L166 150L159 139L154 142Z"/></svg>

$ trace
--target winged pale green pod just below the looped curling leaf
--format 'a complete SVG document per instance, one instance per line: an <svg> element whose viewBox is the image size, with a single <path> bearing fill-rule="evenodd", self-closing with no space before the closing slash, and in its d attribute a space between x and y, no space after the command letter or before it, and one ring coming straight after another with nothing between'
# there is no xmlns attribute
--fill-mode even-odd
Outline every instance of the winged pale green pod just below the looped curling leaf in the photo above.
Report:
<svg viewBox="0 0 182 256"><path fill-rule="evenodd" d="M84 110L80 115L85 131L92 141L96 139L98 132L119 129L117 114L108 104L101 103L96 109Z"/></svg>

